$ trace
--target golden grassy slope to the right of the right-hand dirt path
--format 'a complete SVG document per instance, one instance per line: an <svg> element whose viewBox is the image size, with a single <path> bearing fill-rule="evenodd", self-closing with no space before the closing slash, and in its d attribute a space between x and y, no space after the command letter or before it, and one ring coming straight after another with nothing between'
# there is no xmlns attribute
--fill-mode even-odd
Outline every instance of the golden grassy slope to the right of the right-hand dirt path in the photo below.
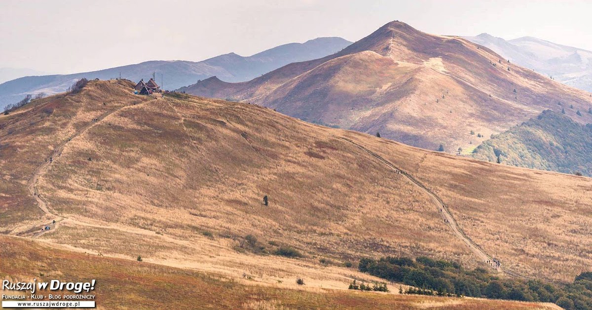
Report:
<svg viewBox="0 0 592 310"><path fill-rule="evenodd" d="M592 269L590 178L348 135L439 195L465 233L504 266L559 281Z"/></svg>

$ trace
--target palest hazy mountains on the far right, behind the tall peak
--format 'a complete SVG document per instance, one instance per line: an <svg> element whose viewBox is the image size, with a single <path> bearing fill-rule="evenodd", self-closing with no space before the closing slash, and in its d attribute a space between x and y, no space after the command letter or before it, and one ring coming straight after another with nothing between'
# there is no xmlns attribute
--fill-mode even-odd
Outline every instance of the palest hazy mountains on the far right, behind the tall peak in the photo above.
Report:
<svg viewBox="0 0 592 310"><path fill-rule="evenodd" d="M494 50L511 62L534 69L557 81L592 91L592 52L535 37L504 40L487 33L465 37Z"/></svg>

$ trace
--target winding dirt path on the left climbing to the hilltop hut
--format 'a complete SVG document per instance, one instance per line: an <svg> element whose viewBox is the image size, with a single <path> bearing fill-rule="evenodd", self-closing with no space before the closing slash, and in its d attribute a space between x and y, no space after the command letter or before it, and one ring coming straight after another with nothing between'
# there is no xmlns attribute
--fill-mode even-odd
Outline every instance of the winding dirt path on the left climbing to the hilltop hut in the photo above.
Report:
<svg viewBox="0 0 592 310"><path fill-rule="evenodd" d="M74 135L70 136L70 138L64 140L62 143L57 145L57 147L54 149L53 153L50 154L49 156L47 156L47 158L45 159L45 162L43 162L43 164L41 164L39 167L37 167L36 170L33 172L33 175L31 176L31 178L29 178L29 180L27 182L27 188L29 190L29 193L31 195L33 195L33 198L37 202L37 206L46 215L49 215L50 217L53 217L56 220L55 224L52 224L52 225L47 224L47 226L53 226L53 228L55 229L57 223L62 222L63 220L66 220L67 218L65 218L64 216L54 214L49 210L49 208L47 207L46 200L43 199L43 197L41 197L41 194L39 193L39 190L37 188L37 184L39 183L39 178L43 174L45 174L47 172L47 170L49 170L49 167L53 164L53 161L55 161L56 158L59 158L60 156L62 156L62 151L66 147L68 142L70 142L72 139L78 137L82 133L86 132L86 130L90 129L91 127L95 126L96 124L100 123L101 120L105 119L105 117L110 116L111 114L113 114L125 107L129 107L129 106L121 106L121 107L115 108L114 110L107 111L107 112L101 114L101 116L96 117L95 120L92 120L90 123L83 126L80 130L78 130L78 132L76 132ZM37 237L45 234L46 232L47 231L45 231L45 230L42 232L37 232L33 236L33 238L37 238Z"/></svg>

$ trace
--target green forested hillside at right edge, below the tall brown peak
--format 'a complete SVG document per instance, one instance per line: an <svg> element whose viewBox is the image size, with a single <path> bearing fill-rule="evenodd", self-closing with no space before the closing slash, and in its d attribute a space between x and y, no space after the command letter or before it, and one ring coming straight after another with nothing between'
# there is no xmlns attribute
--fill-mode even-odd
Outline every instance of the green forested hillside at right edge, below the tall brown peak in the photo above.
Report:
<svg viewBox="0 0 592 310"><path fill-rule="evenodd" d="M584 112L587 113L587 112ZM478 146L474 158L506 165L592 175L592 127L552 110Z"/></svg>

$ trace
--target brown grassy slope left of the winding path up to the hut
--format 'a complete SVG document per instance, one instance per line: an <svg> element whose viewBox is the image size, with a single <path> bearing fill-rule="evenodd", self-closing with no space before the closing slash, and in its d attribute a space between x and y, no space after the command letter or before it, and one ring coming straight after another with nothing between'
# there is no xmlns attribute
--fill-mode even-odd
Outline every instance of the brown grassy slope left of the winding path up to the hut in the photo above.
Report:
<svg viewBox="0 0 592 310"><path fill-rule="evenodd" d="M30 228L17 228L25 221L46 220L27 191L33 171L53 155L60 142L95 117L121 107L122 101L139 102L140 98L128 97L130 85L126 81L102 82L92 92L44 98L0 116L0 227L4 233Z"/></svg>

